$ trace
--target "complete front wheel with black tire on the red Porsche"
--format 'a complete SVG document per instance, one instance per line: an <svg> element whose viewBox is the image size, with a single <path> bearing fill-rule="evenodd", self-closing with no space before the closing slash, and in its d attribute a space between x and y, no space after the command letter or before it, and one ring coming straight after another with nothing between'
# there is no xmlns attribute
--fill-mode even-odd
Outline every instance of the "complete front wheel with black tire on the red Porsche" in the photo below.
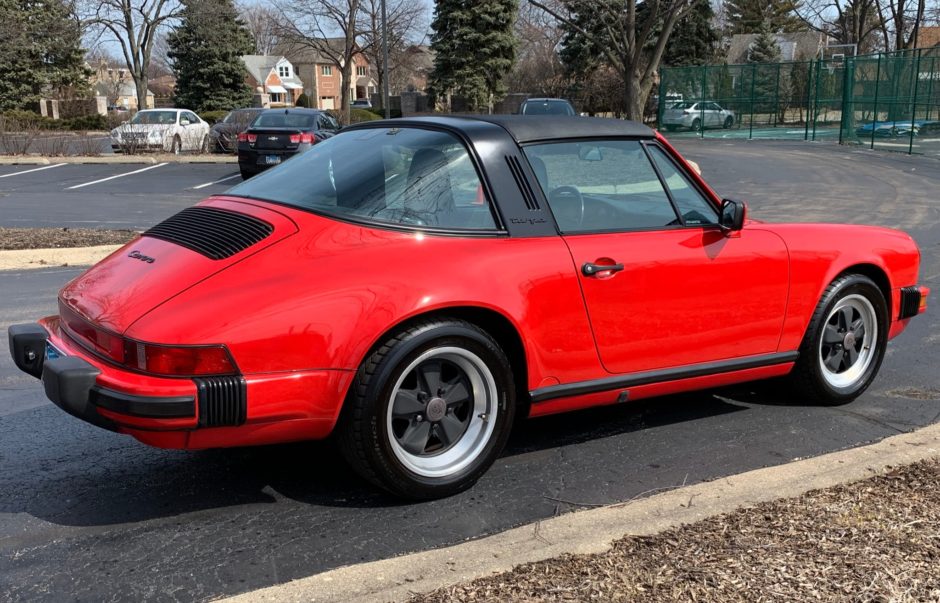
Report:
<svg viewBox="0 0 940 603"><path fill-rule="evenodd" d="M830 406L860 396L884 360L888 326L887 302L870 278L847 274L833 281L813 312L789 376L798 402Z"/></svg>

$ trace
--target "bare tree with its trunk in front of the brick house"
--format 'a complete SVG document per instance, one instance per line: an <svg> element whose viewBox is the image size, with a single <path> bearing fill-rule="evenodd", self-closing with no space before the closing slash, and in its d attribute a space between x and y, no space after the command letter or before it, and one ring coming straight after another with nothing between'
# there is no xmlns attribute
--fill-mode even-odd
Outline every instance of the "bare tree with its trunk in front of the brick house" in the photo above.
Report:
<svg viewBox="0 0 940 603"><path fill-rule="evenodd" d="M342 86L340 114L349 123L353 61L367 50L361 41L361 0L282 0L278 34L292 48L309 48L333 63ZM328 34L339 33L331 39Z"/></svg>

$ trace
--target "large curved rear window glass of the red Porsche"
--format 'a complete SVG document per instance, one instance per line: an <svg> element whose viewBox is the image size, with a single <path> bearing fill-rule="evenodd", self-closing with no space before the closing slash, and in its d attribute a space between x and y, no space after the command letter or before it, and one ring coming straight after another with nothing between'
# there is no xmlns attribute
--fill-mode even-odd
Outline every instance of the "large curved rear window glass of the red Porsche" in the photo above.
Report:
<svg viewBox="0 0 940 603"><path fill-rule="evenodd" d="M377 223L496 229L463 143L418 128L340 133L228 194Z"/></svg>

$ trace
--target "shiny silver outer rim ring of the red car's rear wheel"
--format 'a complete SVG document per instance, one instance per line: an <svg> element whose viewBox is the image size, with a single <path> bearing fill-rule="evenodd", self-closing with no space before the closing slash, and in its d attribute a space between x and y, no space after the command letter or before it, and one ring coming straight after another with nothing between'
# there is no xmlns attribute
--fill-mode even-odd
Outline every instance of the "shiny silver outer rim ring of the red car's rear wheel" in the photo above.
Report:
<svg viewBox="0 0 940 603"><path fill-rule="evenodd" d="M392 419L395 401L408 375L429 360L444 360L463 371L469 381L472 408L463 433L441 452L414 454L404 448L395 435ZM388 443L395 458L412 473L426 478L441 478L459 473L480 457L496 427L499 390L486 363L473 352L456 346L436 347L420 354L399 373L391 390L385 418Z"/></svg>

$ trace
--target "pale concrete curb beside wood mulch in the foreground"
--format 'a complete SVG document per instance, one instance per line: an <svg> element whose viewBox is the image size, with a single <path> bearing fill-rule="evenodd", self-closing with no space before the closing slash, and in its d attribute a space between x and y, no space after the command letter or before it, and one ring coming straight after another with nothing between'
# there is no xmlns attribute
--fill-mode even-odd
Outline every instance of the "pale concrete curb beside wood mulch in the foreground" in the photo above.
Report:
<svg viewBox="0 0 940 603"><path fill-rule="evenodd" d="M601 553L624 535L651 535L809 490L858 481L940 456L940 424L842 452L749 471L649 498L569 513L463 544L341 567L225 599L400 601L563 553Z"/></svg>

